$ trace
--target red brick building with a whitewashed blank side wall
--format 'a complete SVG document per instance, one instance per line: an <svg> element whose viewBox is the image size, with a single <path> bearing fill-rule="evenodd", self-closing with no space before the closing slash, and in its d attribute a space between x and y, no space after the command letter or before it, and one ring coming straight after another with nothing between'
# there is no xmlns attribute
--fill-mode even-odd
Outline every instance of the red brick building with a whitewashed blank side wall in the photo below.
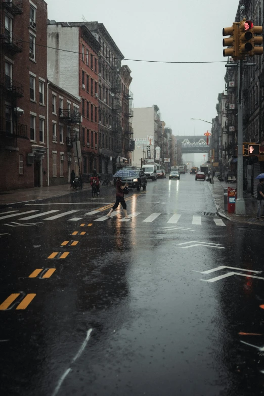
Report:
<svg viewBox="0 0 264 396"><path fill-rule="evenodd" d="M48 78L81 101L81 172L99 170L98 152L98 51L100 44L90 30L78 22L48 21Z"/></svg>

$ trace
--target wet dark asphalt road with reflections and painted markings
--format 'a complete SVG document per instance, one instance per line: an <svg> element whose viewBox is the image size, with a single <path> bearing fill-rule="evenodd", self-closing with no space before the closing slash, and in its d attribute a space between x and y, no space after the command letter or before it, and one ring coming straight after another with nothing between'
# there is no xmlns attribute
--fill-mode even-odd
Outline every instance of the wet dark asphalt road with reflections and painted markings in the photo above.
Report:
<svg viewBox="0 0 264 396"><path fill-rule="evenodd" d="M127 222L97 221L113 187L3 210L0 394L264 394L262 230L213 215L208 187L150 181Z"/></svg>

